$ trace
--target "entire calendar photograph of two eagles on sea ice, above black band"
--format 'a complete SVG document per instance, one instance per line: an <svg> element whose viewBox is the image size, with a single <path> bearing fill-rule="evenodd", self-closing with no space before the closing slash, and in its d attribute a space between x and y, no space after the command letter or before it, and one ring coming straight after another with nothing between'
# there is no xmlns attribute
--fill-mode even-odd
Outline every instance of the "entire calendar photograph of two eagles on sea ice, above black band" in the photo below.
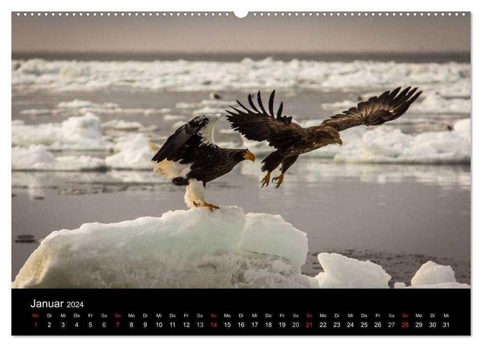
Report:
<svg viewBox="0 0 482 347"><path fill-rule="evenodd" d="M12 12L12 291L470 289L470 21Z"/></svg>

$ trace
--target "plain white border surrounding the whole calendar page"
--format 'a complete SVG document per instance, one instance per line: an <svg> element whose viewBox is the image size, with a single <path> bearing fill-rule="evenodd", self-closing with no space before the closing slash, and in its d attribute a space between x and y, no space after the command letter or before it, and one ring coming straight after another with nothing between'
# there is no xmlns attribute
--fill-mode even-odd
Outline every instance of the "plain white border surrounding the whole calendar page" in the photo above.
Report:
<svg viewBox="0 0 482 347"><path fill-rule="evenodd" d="M5 2L5 1L4 1ZM481 42L480 35L477 33L482 32L482 23L479 19L482 17L481 11L478 11L479 6L474 3L475 1L468 1L468 0L458 0L458 1L437 1L437 2L428 2L428 1L420 1L420 0L406 0L403 2L391 2L391 1L373 1L373 0L365 0L365 1L354 1L354 0L345 0L344 2L341 1L333 1L333 2L314 2L313 0L296 0L290 3L281 3L278 1L260 1L260 0L240 0L236 4L233 4L231 1L221 1L221 0L204 0L204 1L194 1L194 0L185 0L183 2L175 1L175 2L154 2L154 1L147 1L147 0L136 0L133 3L130 2L114 2L114 1L98 1L98 0L83 0L81 2L73 2L73 1L65 1L65 0L43 0L43 1L34 1L34 0L23 0L23 1L14 1L8 2L7 4L2 3L2 47L11 47L11 15L10 11L45 11L45 10L55 10L55 11L79 11L79 10L89 10L89 11L105 11L105 10L116 10L116 11L123 11L123 10L163 10L163 11L200 11L200 10L216 10L216 11L316 11L316 10L323 10L323 11L400 11L403 10L404 12L407 11L454 11L455 10L463 10L466 12L475 11L472 15L472 35L473 37L478 37L478 39L472 39L472 61L476 62L472 66L472 95L480 95L481 90L481 68L479 67L480 62L477 62L474 57L481 57ZM85 338L63 338L63 337L41 337L41 338L12 338L11 334L11 297L10 297L10 272L11 267L6 266L6 264L11 264L11 232L8 231L8 227L11 230L11 198L8 191L11 190L11 171L8 168L8 162L10 159L11 151L11 128L10 128L10 117L8 117L7 113L8 110L11 109L11 70L10 70L10 62L11 62L11 54L8 50L3 49L1 51L1 71L2 73L2 83L1 83L1 101L5 107L3 108L3 115L2 115L2 126L1 129L1 136L0 136L0 143L1 143L1 151L2 151L2 158L6 164L4 164L0 174L1 174L1 182L2 182L2 189L1 189L1 211L3 220L8 221L6 223L6 230L3 230L3 242L1 242L1 262L3 266L1 267L1 300L0 300L0 329L1 329L1 339L4 343L8 345L4 346L29 346L32 345L42 344L50 346L65 346L68 345L69 347L84 347L85 344L92 344L94 343L97 345L109 344L111 343L111 339L115 339L116 347L131 347L134 344L162 344L163 346L191 346L193 344L197 346L228 346L229 347L237 347L237 346L244 346L245 344L250 345L276 345L279 346L293 346L295 344L337 344L340 346L348 346L348 345L361 345L361 346L419 346L422 344L436 344L437 347L439 346L453 346L455 344L464 344L464 345L476 345L478 344L481 346L481 339L482 332L480 327L482 327L482 318L480 318L482 314L481 309L481 302L482 302L482 293L479 290L481 286L480 281L480 271L479 269L482 267L482 256L481 252L479 251L482 249L481 239L482 236L480 233L482 232L482 217L479 214L474 213L474 211L481 211L482 209L482 191L481 191L481 183L480 177L482 177L482 170L481 170L481 140L479 140L478 135L481 133L482 129L480 126L480 120L477 119L477 116L472 120L472 134L476 136L472 136L472 143L473 143L473 151L472 151L472 176L479 177L479 180L472 182L472 230L474 231L472 234L472 262L471 268L474 269L472 271L471 276L471 284L472 284L472 299L473 299L473 309L472 309L472 333L473 338L450 338L450 337L407 337L407 338L388 338L388 337L376 337L376 338L368 338L368 337L323 337L321 340L320 338L311 338L311 337L279 337L279 338L267 338L267 337L260 337L260 338L250 338L250 337L241 337L241 338L228 338L228 337L211 337L211 338L196 338L196 337L165 337L165 338L158 338L158 337L116 337L116 338L108 338L108 337L85 337ZM478 111L480 110L480 99L473 98L472 99L472 114L478 115ZM8 106L8 108L7 108ZM474 208L475 206L475 208ZM477 292L477 293L476 293ZM323 293L320 292L322 296ZM5 341L7 340L7 341ZM37 345L38 346L38 345Z"/></svg>

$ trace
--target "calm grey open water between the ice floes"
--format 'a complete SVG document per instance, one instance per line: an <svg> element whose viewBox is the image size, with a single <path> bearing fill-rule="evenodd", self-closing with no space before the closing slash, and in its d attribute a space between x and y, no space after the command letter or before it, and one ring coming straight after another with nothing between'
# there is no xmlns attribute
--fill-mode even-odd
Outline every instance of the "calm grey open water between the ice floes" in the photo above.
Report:
<svg viewBox="0 0 482 347"><path fill-rule="evenodd" d="M222 93L224 100L243 99L247 91ZM255 92L255 91L249 91ZM363 91L360 91L360 93ZM332 111L320 103L356 100L342 91L278 92L287 114L297 119L324 119ZM277 97L277 98L278 98ZM36 124L58 122L70 115L24 110L53 110L61 101L114 102L124 109L171 108L171 114L192 116L192 109L176 109L179 102L200 102L206 92L42 92L13 93L12 119ZM162 115L99 115L102 122L122 118L156 125L146 136L160 139L172 131ZM469 115L423 115L423 123L407 115L398 126L408 133L441 130ZM405 117L405 116L404 116ZM216 126L228 129L224 119ZM216 141L239 141L236 134L215 134ZM96 155L103 156L104 153ZM451 265L459 282L470 284L470 165L335 164L300 157L279 189L260 188L259 160L242 163L207 186L206 199L216 205L237 205L245 212L279 214L308 235L309 254L302 271L321 270L316 254L339 252L374 261L392 275L392 282L410 283L415 271L433 260ZM76 229L83 223L113 223L141 216L185 209L184 190L162 181L150 171L106 173L12 172L12 279L38 241L51 231ZM18 242L18 235L36 242Z"/></svg>

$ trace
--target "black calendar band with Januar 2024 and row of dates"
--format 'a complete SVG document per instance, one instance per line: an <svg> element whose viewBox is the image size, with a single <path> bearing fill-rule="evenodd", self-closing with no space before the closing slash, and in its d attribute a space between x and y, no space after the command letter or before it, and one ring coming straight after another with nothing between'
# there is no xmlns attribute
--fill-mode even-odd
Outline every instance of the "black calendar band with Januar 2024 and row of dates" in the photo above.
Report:
<svg viewBox="0 0 482 347"><path fill-rule="evenodd" d="M470 289L12 289L12 335L470 335Z"/></svg>

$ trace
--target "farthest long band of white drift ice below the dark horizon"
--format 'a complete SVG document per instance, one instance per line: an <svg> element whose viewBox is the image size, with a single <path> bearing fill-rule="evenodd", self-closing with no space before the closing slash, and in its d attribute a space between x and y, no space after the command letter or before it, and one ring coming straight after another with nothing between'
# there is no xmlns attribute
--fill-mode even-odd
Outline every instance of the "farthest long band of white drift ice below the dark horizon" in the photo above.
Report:
<svg viewBox="0 0 482 347"><path fill-rule="evenodd" d="M14 68L15 67L15 68ZM317 88L359 90L419 85L424 90L470 96L470 63L402 63L355 60L290 61L66 61L14 60L14 90L95 91L240 90ZM212 100L213 102L222 100ZM180 106L180 105L179 105ZM178 106L178 107L179 107Z"/></svg>

